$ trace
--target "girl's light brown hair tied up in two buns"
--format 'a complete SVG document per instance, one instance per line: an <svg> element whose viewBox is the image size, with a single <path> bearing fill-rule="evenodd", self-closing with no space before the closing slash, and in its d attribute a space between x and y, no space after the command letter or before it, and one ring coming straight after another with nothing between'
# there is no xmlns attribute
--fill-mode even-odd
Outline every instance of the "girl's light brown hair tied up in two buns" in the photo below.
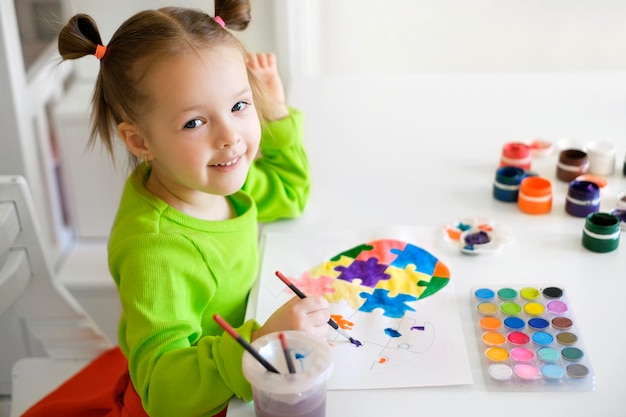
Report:
<svg viewBox="0 0 626 417"><path fill-rule="evenodd" d="M215 14L226 28L244 30L250 22L248 0L216 0ZM100 31L88 15L77 14L61 29L58 48L64 60L93 55L102 45ZM199 10L166 7L145 10L126 20L115 32L100 59L100 71L92 98L89 146L100 138L113 161L117 125L141 119L150 108L150 97L142 91L142 80L151 68L184 50L232 45L242 55L243 45L220 23ZM255 107L263 121L267 100L256 77L248 71ZM129 152L131 167L140 161Z"/></svg>

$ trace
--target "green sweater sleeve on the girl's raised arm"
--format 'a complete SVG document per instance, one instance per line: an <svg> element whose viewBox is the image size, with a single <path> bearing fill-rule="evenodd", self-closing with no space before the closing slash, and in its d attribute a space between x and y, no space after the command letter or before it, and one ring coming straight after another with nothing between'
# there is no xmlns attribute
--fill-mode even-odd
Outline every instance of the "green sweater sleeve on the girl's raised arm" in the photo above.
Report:
<svg viewBox="0 0 626 417"><path fill-rule="evenodd" d="M261 222L302 214L311 185L303 146L304 115L289 116L263 127L261 157L250 168L243 190L254 198Z"/></svg>

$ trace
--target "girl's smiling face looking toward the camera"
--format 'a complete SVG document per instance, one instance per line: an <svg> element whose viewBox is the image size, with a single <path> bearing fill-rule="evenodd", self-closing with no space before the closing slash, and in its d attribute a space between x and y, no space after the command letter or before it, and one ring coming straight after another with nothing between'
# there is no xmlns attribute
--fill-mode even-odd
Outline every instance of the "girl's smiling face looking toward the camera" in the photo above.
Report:
<svg viewBox="0 0 626 417"><path fill-rule="evenodd" d="M143 83L152 104L138 135L141 156L152 163L150 181L161 189L156 194L210 209L216 196L238 191L261 138L241 51L185 51L157 64Z"/></svg>

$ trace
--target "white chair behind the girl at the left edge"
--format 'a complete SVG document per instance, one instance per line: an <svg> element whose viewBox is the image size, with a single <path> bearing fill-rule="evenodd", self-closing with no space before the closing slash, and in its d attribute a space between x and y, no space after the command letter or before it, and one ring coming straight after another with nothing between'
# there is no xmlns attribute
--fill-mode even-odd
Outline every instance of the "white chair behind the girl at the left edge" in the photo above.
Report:
<svg viewBox="0 0 626 417"><path fill-rule="evenodd" d="M28 184L0 175L0 394L17 417L112 343L61 285Z"/></svg>

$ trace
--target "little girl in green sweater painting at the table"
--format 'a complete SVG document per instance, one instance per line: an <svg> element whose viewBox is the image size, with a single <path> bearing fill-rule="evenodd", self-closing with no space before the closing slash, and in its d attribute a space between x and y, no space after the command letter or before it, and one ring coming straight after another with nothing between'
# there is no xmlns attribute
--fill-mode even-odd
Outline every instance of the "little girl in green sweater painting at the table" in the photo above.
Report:
<svg viewBox="0 0 626 417"><path fill-rule="evenodd" d="M248 340L287 329L324 337L329 319L323 298L296 297L262 326L244 322L258 222L300 215L310 179L303 117L285 105L274 56L246 54L228 30L247 26L247 1L216 0L215 10L140 12L106 46L87 15L59 35L64 59L100 60L90 143L113 153L116 132L135 167L109 268L132 381L123 395L138 394L150 416L212 416L233 395L251 399L243 349L215 313Z"/></svg>

